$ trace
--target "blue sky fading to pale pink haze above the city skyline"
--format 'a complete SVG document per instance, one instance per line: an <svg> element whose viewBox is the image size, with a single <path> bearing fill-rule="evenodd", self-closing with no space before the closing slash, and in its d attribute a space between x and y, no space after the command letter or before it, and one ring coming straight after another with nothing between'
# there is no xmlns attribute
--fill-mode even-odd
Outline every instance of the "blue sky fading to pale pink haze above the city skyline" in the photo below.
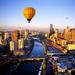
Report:
<svg viewBox="0 0 75 75"><path fill-rule="evenodd" d="M28 24L23 16L25 7L33 7L36 14ZM66 19L68 17L68 19ZM0 27L12 29L48 30L50 24L56 28L75 27L75 0L0 0Z"/></svg>

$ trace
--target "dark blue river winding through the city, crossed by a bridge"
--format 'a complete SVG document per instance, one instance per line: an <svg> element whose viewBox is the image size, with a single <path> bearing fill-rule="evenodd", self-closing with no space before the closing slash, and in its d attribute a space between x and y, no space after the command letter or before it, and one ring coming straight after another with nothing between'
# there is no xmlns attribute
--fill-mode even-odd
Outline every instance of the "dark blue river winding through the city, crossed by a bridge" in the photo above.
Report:
<svg viewBox="0 0 75 75"><path fill-rule="evenodd" d="M38 56L44 57L44 46L37 41L34 41L34 47L30 55L26 56L23 55L21 58L31 58L33 55L34 58ZM19 57L20 58L20 57ZM17 62L14 61L10 62L9 65L6 64L1 69L0 74L2 75L38 75L40 71L40 66L42 62Z"/></svg>

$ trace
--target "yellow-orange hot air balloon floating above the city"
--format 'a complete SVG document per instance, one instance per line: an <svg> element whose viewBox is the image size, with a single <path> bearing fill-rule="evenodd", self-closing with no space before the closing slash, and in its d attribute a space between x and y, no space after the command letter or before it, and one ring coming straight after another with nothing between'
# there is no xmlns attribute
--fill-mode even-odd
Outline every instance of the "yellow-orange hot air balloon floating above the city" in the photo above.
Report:
<svg viewBox="0 0 75 75"><path fill-rule="evenodd" d="M34 17L35 15L35 9L32 7L27 7L24 8L23 11L24 17L28 20L28 22L30 23L31 19Z"/></svg>

